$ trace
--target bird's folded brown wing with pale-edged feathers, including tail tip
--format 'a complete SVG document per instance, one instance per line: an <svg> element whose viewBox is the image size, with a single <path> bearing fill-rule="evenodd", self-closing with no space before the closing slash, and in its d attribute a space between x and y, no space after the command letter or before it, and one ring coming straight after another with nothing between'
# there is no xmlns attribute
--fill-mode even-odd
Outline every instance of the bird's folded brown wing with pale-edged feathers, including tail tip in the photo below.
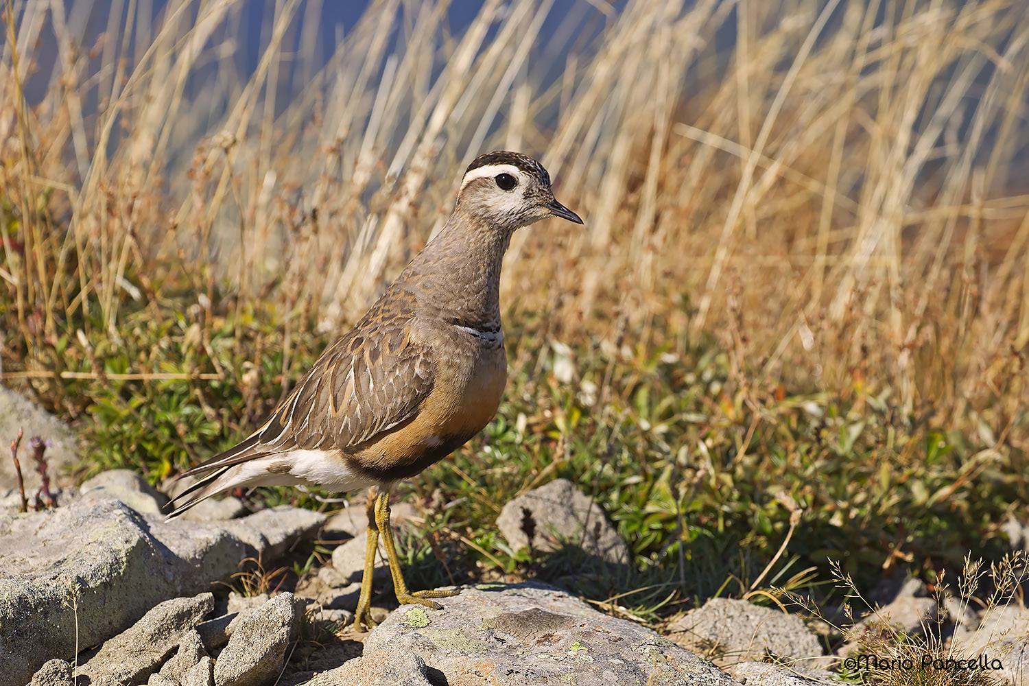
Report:
<svg viewBox="0 0 1029 686"><path fill-rule="evenodd" d="M326 350L272 417L253 434L182 476L207 473L175 500L172 516L238 485L236 465L291 449L344 450L418 413L432 391L435 357L411 334L413 309L402 298L376 306ZM239 471L239 470L236 470Z"/></svg>

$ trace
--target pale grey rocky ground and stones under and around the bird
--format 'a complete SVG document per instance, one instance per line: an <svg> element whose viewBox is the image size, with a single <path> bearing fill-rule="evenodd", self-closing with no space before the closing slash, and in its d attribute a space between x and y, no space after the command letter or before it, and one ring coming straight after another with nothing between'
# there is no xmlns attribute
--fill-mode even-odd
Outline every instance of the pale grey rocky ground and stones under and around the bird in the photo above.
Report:
<svg viewBox="0 0 1029 686"><path fill-rule="evenodd" d="M0 491L4 686L809 686L839 680L885 626L893 639L935 631L950 655L989 655L1002 665L990 672L998 683L1029 686L1029 611L941 607L902 577L884 580L877 611L854 621L717 598L658 634L598 612L574 588L526 582L465 586L442 610L374 608L381 624L356 633L361 508L249 514L227 498L165 521L168 495L132 472L61 485L56 507L24 513L16 489ZM412 514L398 504L394 523ZM629 564L604 513L569 481L511 501L498 526L516 548L530 536L543 550L571 540L605 564ZM282 590L267 570L296 562L316 538L335 545L331 561ZM382 558L380 582L389 583Z"/></svg>

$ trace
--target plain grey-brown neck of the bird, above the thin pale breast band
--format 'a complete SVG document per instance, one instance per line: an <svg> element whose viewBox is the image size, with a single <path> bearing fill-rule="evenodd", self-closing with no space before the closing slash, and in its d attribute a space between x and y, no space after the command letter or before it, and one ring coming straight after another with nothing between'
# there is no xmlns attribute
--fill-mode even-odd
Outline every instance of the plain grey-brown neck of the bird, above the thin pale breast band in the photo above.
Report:
<svg viewBox="0 0 1029 686"><path fill-rule="evenodd" d="M486 225L458 206L447 224L407 264L397 285L449 324L500 330L500 265L512 231Z"/></svg>

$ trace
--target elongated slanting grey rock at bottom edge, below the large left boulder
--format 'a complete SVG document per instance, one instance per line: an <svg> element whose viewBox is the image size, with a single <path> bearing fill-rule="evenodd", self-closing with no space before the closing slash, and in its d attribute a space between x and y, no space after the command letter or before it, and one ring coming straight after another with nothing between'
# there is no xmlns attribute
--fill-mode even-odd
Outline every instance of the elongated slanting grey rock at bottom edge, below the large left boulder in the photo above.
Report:
<svg viewBox="0 0 1029 686"><path fill-rule="evenodd" d="M88 683L110 678L126 686L142 684L175 650L182 635L213 609L214 597L209 592L159 603L131 628L104 642L79 667L79 674Z"/></svg>

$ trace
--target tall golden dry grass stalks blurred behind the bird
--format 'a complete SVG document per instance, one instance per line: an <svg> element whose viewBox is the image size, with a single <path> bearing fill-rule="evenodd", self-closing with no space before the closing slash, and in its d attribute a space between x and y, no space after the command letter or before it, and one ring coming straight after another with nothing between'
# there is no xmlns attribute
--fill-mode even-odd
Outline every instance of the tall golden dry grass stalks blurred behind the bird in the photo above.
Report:
<svg viewBox="0 0 1029 686"><path fill-rule="evenodd" d="M505 301L552 336L613 339L617 313L644 347L723 335L755 392L888 390L1001 440L1025 411L1017 0L489 0L456 34L448 3L377 0L324 58L320 4L279 0L252 72L249 3L114 5L83 45L81 3L6 2L0 277L27 338L118 335L183 279L338 327L506 146L587 219L511 246Z"/></svg>

